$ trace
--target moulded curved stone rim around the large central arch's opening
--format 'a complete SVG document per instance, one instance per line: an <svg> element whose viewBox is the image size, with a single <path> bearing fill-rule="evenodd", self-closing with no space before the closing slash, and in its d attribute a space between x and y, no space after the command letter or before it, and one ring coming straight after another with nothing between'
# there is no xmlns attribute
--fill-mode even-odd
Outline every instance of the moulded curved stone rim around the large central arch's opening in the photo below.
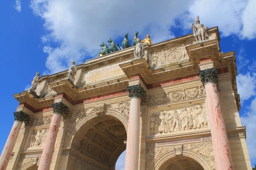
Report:
<svg viewBox="0 0 256 170"><path fill-rule="evenodd" d="M115 117L116 119L118 119L120 122L122 122L122 124L124 125L125 127L125 130L126 130L126 134L127 134L127 131L128 131L128 119L127 117L122 114L121 112L119 111L116 111L114 109L111 109L111 108L106 108L105 110L105 115L109 115L109 116L113 116ZM96 118L98 115L95 114L95 111L88 114L87 116L85 116L83 119L81 119L77 125L70 130L70 133L68 134L67 136L67 142L65 144L65 146L71 146L71 143L74 139L74 136L76 135L76 132L79 131L79 129L88 121L90 121L91 119L93 118Z"/></svg>

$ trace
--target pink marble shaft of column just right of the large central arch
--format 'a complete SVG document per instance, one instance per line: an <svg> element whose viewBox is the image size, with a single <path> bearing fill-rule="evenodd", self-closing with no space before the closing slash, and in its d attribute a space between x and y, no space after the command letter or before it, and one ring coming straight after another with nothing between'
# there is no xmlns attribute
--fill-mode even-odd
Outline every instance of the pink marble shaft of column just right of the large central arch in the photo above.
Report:
<svg viewBox="0 0 256 170"><path fill-rule="evenodd" d="M132 97L128 122L125 170L138 170L140 139L140 98Z"/></svg>

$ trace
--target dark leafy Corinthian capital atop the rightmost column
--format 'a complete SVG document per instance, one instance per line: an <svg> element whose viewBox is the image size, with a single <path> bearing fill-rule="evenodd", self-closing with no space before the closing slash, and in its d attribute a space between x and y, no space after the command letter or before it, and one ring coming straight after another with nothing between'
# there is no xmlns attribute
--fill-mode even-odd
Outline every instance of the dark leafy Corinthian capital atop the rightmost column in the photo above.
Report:
<svg viewBox="0 0 256 170"><path fill-rule="evenodd" d="M203 85L207 82L218 83L218 72L216 67L199 70L199 76Z"/></svg>

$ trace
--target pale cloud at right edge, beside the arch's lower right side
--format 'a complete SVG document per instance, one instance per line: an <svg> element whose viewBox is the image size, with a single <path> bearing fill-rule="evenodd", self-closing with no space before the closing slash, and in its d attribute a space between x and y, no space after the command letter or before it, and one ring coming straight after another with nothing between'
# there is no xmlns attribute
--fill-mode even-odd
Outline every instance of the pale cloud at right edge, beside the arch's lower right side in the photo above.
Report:
<svg viewBox="0 0 256 170"><path fill-rule="evenodd" d="M241 116L241 122L243 126L246 126L246 144L250 156L250 160L253 163L256 161L256 140L255 140L255 129L256 129L256 98L253 99L250 105L250 112L246 113L244 116Z"/></svg>

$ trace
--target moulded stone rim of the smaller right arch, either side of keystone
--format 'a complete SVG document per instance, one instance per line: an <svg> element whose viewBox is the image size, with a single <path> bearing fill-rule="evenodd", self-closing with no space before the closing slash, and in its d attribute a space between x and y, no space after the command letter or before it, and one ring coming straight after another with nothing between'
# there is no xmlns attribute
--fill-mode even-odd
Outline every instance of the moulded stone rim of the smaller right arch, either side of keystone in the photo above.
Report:
<svg viewBox="0 0 256 170"><path fill-rule="evenodd" d="M201 166L204 168L204 170L212 170L211 165L209 164L209 162L204 159L203 156L201 156L200 154L192 151L192 150L187 150L187 149L183 149L183 156L195 159L195 161L197 161L199 164L201 164ZM175 157L175 151L172 150L170 152L167 152L166 154L163 154L162 156L160 156L159 159L157 159L157 161L155 161L154 163L154 168L152 167L151 170L155 169L155 170L160 170L160 167L169 159L172 159Z"/></svg>

